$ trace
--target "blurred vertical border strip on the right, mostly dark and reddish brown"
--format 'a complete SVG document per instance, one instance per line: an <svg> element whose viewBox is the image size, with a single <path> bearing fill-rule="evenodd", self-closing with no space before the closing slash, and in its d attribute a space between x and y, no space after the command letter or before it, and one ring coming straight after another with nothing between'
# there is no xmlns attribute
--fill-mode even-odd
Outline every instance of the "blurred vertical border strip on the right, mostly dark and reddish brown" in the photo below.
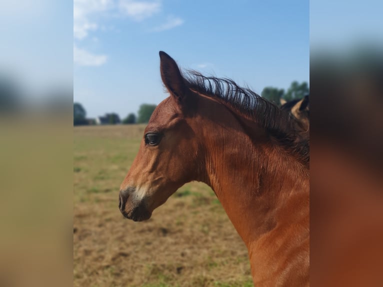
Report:
<svg viewBox="0 0 383 287"><path fill-rule="evenodd" d="M310 281L382 284L380 1L310 1Z"/></svg>

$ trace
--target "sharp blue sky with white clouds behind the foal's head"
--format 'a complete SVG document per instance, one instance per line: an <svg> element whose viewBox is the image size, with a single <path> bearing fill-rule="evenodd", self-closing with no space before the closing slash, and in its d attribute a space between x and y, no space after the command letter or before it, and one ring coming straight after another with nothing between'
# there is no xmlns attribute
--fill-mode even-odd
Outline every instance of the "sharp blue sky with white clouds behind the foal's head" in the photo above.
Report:
<svg viewBox="0 0 383 287"><path fill-rule="evenodd" d="M307 0L74 0L73 100L136 113L163 92L158 51L260 93L309 80Z"/></svg>

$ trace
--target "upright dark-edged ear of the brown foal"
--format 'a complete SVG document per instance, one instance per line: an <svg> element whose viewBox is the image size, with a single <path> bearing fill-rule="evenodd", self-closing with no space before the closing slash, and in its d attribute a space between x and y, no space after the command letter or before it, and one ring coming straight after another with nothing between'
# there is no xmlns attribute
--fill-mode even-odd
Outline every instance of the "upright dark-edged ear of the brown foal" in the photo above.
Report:
<svg viewBox="0 0 383 287"><path fill-rule="evenodd" d="M159 51L159 58L161 78L165 87L172 96L182 101L185 97L186 85L177 63L163 51Z"/></svg>

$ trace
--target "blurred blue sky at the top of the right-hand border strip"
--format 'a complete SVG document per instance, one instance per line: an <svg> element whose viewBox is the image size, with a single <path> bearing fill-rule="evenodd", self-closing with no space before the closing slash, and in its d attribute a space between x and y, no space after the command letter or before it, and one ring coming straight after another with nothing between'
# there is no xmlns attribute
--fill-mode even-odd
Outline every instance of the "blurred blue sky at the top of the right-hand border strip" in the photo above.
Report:
<svg viewBox="0 0 383 287"><path fill-rule="evenodd" d="M311 52L383 44L381 0L311 0L309 10Z"/></svg>

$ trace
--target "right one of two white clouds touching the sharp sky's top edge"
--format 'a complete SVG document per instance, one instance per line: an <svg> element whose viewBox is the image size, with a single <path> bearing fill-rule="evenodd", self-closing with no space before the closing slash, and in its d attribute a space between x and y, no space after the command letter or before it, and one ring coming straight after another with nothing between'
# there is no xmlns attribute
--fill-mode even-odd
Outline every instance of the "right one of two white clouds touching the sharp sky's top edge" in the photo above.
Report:
<svg viewBox="0 0 383 287"><path fill-rule="evenodd" d="M151 17L161 9L159 0L137 1L137 0L119 0L120 10L136 21L141 21Z"/></svg>

